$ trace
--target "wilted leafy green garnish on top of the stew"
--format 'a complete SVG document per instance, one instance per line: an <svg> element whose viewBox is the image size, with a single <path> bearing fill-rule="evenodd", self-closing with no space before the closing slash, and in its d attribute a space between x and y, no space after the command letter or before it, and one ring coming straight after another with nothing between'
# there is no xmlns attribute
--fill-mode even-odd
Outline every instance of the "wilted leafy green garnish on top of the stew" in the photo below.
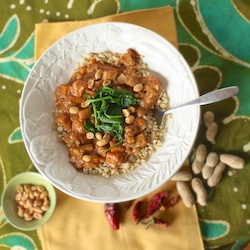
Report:
<svg viewBox="0 0 250 250"><path fill-rule="evenodd" d="M112 148L121 144L124 130L122 109L136 105L140 100L128 90L117 90L114 86L102 87L93 98L87 99L93 108L94 124L87 120L84 124L86 131L112 133L118 140Z"/></svg>

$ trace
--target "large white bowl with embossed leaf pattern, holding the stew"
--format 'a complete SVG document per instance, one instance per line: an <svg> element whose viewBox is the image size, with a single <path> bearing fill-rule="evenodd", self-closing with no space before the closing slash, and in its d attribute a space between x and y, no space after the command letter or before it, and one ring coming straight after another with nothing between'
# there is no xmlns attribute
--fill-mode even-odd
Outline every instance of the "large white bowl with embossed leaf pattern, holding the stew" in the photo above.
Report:
<svg viewBox="0 0 250 250"><path fill-rule="evenodd" d="M188 157L200 121L200 108L189 107L167 122L163 146L128 174L104 178L76 171L65 145L57 141L53 124L54 90L70 79L77 64L91 52L124 53L134 48L167 89L174 107L199 96L190 67L168 41L127 23L101 23L78 29L53 44L36 62L25 83L20 124L23 140L38 171L70 196L93 202L132 200L159 188Z"/></svg>

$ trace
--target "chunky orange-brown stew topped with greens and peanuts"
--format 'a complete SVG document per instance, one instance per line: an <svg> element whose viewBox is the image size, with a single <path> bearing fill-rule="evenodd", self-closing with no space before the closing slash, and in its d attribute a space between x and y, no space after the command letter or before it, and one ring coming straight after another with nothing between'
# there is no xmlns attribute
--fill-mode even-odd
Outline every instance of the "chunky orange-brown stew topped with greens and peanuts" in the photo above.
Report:
<svg viewBox="0 0 250 250"><path fill-rule="evenodd" d="M89 60L55 90L55 123L76 169L117 169L152 142L147 115L163 92L133 49L111 62ZM100 57L102 58L102 57Z"/></svg>

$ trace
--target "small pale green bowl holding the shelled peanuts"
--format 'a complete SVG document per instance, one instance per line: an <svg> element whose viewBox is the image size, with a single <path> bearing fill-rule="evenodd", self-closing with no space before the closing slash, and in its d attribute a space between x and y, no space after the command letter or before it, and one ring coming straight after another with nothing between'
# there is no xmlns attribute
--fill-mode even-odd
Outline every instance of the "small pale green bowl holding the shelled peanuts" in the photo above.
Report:
<svg viewBox="0 0 250 250"><path fill-rule="evenodd" d="M19 184L42 185L48 191L50 207L41 219L25 221L17 215L15 196L17 194L16 188ZM51 185L51 183L41 174L35 172L25 172L16 175L8 182L2 194L1 204L3 212L12 226L24 231L35 230L44 225L51 218L56 206L56 192L53 185Z"/></svg>

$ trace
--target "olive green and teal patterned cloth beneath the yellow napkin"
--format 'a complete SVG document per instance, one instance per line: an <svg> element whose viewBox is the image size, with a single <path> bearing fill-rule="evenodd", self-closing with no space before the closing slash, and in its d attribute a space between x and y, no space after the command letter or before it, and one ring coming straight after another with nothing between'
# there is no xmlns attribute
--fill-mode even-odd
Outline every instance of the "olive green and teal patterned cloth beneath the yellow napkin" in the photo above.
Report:
<svg viewBox="0 0 250 250"><path fill-rule="evenodd" d="M18 112L34 59L35 23L73 21L171 5L179 50L191 66L200 94L237 85L235 98L202 108L219 124L210 151L244 158L243 170L227 169L209 190L206 207L197 205L205 246L242 249L250 241L250 3L244 0L12 0L0 1L0 193L17 173L35 170L22 142ZM206 143L201 124L196 145ZM191 155L192 158L192 155ZM42 249L37 231L20 233L0 208L0 249Z"/></svg>

